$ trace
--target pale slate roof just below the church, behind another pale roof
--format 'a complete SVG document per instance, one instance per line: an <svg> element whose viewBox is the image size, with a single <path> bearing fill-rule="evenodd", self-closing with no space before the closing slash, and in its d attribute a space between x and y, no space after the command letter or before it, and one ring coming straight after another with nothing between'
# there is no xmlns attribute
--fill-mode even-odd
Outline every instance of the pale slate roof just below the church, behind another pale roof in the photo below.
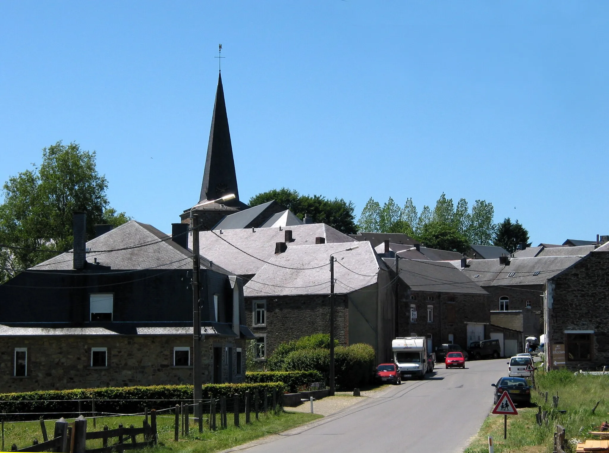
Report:
<svg viewBox="0 0 609 453"><path fill-rule="evenodd" d="M255 228L247 230L200 231L199 250L202 256L237 275L257 273L266 261L275 256L275 243L285 241L286 228ZM326 243L356 242L347 234L325 223L308 223L287 228L292 231L295 245L315 244L315 237L325 237ZM189 238L192 244L192 238ZM328 258L329 259L329 258ZM328 261L329 262L329 261Z"/></svg>

